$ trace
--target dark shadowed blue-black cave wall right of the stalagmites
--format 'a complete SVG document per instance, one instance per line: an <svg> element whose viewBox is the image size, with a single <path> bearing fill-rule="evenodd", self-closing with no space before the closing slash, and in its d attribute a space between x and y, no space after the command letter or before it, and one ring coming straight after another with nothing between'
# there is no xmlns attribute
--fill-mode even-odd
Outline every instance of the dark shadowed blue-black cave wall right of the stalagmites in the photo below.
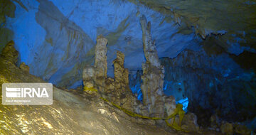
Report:
<svg viewBox="0 0 256 135"><path fill-rule="evenodd" d="M179 98L188 97L188 111L197 115L202 126L210 126L213 114L228 121L253 119L256 113L253 69L245 72L232 55L220 52L214 45L210 49L195 48L174 59L161 58L165 67L164 93L178 97L180 94L175 92L181 90Z"/></svg>

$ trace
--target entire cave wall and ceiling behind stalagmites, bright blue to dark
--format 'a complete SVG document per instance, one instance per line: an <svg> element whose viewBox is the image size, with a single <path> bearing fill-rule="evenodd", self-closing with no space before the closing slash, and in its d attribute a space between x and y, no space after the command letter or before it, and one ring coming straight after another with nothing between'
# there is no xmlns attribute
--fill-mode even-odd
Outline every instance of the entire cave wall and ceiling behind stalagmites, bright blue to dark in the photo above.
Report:
<svg viewBox="0 0 256 135"><path fill-rule="evenodd" d="M166 95L188 97L188 110L205 112L202 119L255 117L255 1L4 2L0 50L13 39L19 63L58 87L82 85L82 68L93 65L96 37L103 35L107 75L114 76L112 61L122 51L129 85L142 99L139 17L145 14L166 70Z"/></svg>

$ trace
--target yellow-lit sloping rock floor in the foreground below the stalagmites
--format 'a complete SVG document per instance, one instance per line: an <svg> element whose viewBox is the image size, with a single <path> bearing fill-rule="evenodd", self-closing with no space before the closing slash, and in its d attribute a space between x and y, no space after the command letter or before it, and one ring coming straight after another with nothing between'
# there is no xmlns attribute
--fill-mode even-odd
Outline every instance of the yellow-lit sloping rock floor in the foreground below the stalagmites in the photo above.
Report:
<svg viewBox="0 0 256 135"><path fill-rule="evenodd" d="M10 48L9 45L6 48ZM14 49L15 50L15 49ZM9 52L10 53L10 52ZM11 53L10 53L11 54ZM16 56L18 53L14 53ZM11 82L45 82L21 70L13 63L14 55L0 55L1 86ZM129 117L99 98L87 97L53 87L50 106L4 106L0 104L1 134L178 134Z"/></svg>

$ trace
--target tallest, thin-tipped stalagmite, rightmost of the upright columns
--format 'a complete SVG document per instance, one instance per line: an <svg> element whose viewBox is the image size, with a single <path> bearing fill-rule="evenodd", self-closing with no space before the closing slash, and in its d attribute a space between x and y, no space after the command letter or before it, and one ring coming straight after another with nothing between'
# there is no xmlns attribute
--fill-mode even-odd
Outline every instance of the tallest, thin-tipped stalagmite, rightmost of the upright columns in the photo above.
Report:
<svg viewBox="0 0 256 135"><path fill-rule="evenodd" d="M143 103L154 117L164 117L164 68L159 63L156 45L151 38L151 23L146 17L140 18L142 26L143 50L146 63L142 63L142 95Z"/></svg>

